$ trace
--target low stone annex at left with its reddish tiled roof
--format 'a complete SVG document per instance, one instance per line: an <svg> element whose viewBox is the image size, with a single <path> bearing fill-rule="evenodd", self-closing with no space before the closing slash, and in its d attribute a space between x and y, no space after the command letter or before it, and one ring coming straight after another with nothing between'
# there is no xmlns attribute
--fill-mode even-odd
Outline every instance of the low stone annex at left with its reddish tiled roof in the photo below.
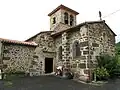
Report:
<svg viewBox="0 0 120 90"><path fill-rule="evenodd" d="M37 44L0 38L0 67L4 73L29 72Z"/></svg>

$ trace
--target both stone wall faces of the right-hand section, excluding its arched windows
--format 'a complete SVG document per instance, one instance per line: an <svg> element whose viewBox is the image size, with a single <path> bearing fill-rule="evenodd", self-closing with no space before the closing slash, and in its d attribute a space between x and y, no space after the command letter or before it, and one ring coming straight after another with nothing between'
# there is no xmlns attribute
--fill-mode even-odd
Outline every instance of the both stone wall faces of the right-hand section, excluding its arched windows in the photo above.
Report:
<svg viewBox="0 0 120 90"><path fill-rule="evenodd" d="M74 30L72 30L74 29ZM70 67L75 78L90 80L92 71L96 67L96 56L100 53L114 55L115 35L103 23L85 24L72 28L55 37L57 66ZM73 44L80 44L80 56L73 57ZM62 59L59 60L59 47L62 46Z"/></svg>

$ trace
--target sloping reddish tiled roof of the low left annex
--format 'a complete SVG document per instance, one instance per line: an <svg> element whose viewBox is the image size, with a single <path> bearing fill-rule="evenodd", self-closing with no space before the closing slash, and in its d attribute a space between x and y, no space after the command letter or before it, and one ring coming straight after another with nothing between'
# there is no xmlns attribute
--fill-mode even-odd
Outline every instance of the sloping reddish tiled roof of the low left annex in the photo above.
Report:
<svg viewBox="0 0 120 90"><path fill-rule="evenodd" d="M20 45L37 46L37 44L35 42L25 42L25 41L3 39L3 38L0 38L0 41L4 42L4 43L13 43L13 44L20 44Z"/></svg>

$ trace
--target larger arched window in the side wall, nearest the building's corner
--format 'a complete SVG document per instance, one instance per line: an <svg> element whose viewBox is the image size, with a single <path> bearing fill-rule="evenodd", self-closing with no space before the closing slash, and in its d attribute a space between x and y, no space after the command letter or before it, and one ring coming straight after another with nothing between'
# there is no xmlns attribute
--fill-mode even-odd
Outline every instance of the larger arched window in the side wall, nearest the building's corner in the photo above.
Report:
<svg viewBox="0 0 120 90"><path fill-rule="evenodd" d="M80 44L78 41L73 43L73 58L80 56Z"/></svg>

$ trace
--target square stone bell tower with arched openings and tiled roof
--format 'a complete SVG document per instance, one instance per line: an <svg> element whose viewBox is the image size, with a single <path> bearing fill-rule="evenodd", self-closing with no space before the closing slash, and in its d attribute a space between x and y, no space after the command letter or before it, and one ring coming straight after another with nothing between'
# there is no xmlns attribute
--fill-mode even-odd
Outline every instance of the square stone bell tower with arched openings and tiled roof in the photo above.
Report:
<svg viewBox="0 0 120 90"><path fill-rule="evenodd" d="M58 32L76 25L76 15L79 13L60 5L48 14L50 17L50 30Z"/></svg>

